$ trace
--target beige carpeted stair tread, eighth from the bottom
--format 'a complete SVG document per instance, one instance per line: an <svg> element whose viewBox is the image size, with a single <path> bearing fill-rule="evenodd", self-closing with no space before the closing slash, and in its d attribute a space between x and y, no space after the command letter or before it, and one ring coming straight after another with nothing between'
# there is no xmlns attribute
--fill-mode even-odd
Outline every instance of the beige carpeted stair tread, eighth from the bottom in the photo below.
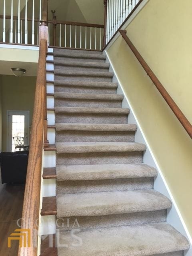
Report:
<svg viewBox="0 0 192 256"><path fill-rule="evenodd" d="M54 80L55 86L82 86L96 88L117 88L117 83L112 82L97 82L97 81L66 81L62 79Z"/></svg>

